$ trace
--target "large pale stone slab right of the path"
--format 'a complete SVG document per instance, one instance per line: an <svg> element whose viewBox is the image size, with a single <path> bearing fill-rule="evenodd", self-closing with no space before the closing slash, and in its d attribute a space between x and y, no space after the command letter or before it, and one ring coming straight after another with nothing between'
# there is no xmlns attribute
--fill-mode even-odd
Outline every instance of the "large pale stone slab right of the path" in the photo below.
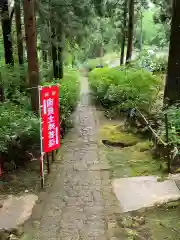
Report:
<svg viewBox="0 0 180 240"><path fill-rule="evenodd" d="M114 192L122 212L152 207L180 199L180 191L172 179L157 181L156 176L115 179Z"/></svg>

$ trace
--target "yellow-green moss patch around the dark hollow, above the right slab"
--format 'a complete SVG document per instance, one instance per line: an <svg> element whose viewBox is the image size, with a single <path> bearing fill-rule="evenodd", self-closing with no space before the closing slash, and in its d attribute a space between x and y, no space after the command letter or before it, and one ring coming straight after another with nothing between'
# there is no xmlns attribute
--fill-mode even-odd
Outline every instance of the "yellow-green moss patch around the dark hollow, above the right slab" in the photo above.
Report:
<svg viewBox="0 0 180 240"><path fill-rule="evenodd" d="M103 148L112 167L112 177L164 175L161 168L162 160L152 156L150 151L152 145L149 140L142 140L138 135L127 133L122 125L104 126L100 130L100 137L101 140L130 145L125 148Z"/></svg>

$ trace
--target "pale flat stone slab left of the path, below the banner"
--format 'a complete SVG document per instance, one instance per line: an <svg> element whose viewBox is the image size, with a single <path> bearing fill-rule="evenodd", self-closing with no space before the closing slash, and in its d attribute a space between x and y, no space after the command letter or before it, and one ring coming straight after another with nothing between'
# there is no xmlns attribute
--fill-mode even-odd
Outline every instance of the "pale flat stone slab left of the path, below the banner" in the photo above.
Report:
<svg viewBox="0 0 180 240"><path fill-rule="evenodd" d="M38 197L34 194L9 196L0 208L0 230L16 229L31 216Z"/></svg>

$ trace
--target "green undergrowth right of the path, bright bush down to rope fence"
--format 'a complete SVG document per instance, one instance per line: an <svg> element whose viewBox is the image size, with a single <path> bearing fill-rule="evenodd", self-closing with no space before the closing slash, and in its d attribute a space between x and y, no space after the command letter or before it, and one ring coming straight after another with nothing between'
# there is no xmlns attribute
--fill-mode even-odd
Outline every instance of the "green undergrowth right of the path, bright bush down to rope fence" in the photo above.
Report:
<svg viewBox="0 0 180 240"><path fill-rule="evenodd" d="M172 171L179 172L180 110L179 104L163 106L164 78L161 75L166 68L167 61L163 57L144 54L128 66L94 69L89 73L89 83L96 104L104 108L109 118L119 117L122 114L131 117L130 110L137 108L164 142L167 141L166 113L170 150L158 139L153 138L154 150L158 157L171 158ZM141 116L139 119L133 118L133 121L135 129L130 128L130 131L146 135L148 138L152 137Z"/></svg>

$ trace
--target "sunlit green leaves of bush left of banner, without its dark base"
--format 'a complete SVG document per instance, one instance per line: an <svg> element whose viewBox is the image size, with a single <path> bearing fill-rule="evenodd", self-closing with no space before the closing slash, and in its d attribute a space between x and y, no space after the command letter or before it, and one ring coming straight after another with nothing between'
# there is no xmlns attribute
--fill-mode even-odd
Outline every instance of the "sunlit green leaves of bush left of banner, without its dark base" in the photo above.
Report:
<svg viewBox="0 0 180 240"><path fill-rule="evenodd" d="M0 104L0 152L7 152L11 145L26 149L32 142L39 144L39 119L31 111L5 102ZM31 146L32 147L32 146Z"/></svg>

